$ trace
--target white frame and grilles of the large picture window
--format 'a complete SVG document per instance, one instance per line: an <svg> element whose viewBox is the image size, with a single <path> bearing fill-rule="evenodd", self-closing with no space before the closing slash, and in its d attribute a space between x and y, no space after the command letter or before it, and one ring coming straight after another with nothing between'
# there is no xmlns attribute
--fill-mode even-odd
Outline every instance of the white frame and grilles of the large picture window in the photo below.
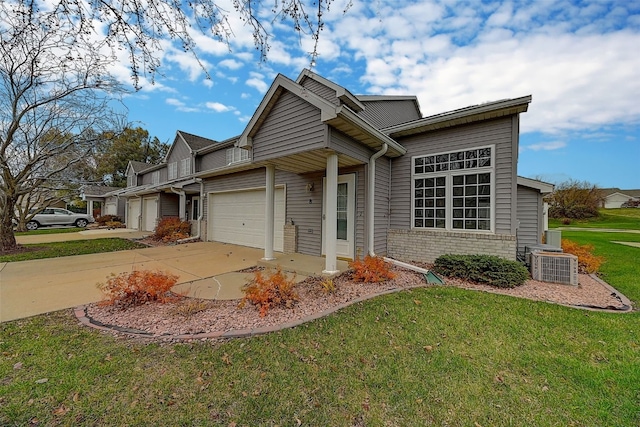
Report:
<svg viewBox="0 0 640 427"><path fill-rule="evenodd" d="M457 154L457 153L466 153L466 152L470 152L473 150L483 150L483 149L490 149L491 150L491 155L489 157L489 162L490 165L489 166L473 166L473 161L477 160L477 159L470 159L470 162L467 163L467 160L451 160L449 159L446 163L443 163L442 161L438 161L438 156L448 156L450 157L451 154ZM429 157L433 157L434 159L434 163L430 163L428 166L424 166L423 170L420 172L416 172L416 169L421 168L421 165L416 165L416 161L418 159L422 159L423 162L425 162L426 158ZM486 146L480 146L480 147L469 147L466 149L460 149L460 150L452 150L452 151L444 151L444 152L440 152L440 153L428 153L428 154L421 154L421 155L416 155L416 156L412 156L411 157L411 228L412 229L416 229L416 230L433 230L433 231L454 231L454 232L461 232L461 233L495 233L495 217L496 217L496 212L495 212L495 198L496 198L496 194L495 194L495 180L496 180L496 173L495 173L495 157L496 157L496 148L495 145L486 145ZM464 165L461 165L459 162L465 162ZM426 163L425 163L426 164ZM454 169L452 169L452 167L456 167ZM457 168L459 166L462 166L461 168ZM468 166L468 167L467 167ZM431 171L430 169L433 169L433 171ZM436 170L438 169L438 170ZM488 173L489 174L489 229L465 229L465 228L453 228L453 222L454 222L454 218L453 218L453 187L454 187L454 183L453 183L453 177L454 176L468 176L468 175L478 175L478 174L485 174ZM416 207L416 180L418 179L428 179L428 178L444 178L444 189L445 189L445 195L444 195L444 200L445 200L445 226L444 228L442 227L427 227L427 226L416 226L416 209L420 209L420 207ZM464 188L466 188L466 184L463 185ZM424 207L424 206L423 206ZM478 207L475 207L476 209L478 209ZM419 219L419 218L418 218ZM462 220L464 221L465 218L462 218ZM476 218L477 219L477 218Z"/></svg>

